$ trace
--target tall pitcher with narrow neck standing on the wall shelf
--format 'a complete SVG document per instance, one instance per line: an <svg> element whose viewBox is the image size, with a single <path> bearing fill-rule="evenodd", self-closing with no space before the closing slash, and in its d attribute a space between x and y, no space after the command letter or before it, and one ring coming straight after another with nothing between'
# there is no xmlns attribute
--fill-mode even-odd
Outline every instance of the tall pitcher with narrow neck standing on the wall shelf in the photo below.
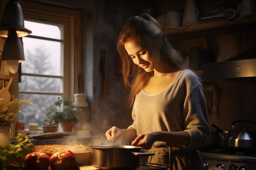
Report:
<svg viewBox="0 0 256 170"><path fill-rule="evenodd" d="M187 0L183 13L183 26L189 26L198 23L198 9L195 7L193 0Z"/></svg>

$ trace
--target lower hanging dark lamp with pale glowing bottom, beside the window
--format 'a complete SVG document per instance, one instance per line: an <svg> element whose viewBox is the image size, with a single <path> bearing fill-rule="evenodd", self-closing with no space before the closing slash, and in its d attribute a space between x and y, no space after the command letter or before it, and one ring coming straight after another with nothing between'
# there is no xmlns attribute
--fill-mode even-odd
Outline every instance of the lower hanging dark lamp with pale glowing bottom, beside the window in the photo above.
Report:
<svg viewBox="0 0 256 170"><path fill-rule="evenodd" d="M15 29L9 29L8 38L4 43L2 60L6 60L9 72L15 74L18 71L18 65L25 60L23 43L18 38Z"/></svg>

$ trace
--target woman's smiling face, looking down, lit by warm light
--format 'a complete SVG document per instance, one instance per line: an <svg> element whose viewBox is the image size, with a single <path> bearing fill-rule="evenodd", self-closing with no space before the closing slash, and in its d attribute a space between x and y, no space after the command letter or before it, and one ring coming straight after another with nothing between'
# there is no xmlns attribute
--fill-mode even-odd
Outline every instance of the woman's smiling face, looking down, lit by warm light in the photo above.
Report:
<svg viewBox="0 0 256 170"><path fill-rule="evenodd" d="M148 73L159 64L160 50L155 46L131 39L124 43L124 47L132 61Z"/></svg>

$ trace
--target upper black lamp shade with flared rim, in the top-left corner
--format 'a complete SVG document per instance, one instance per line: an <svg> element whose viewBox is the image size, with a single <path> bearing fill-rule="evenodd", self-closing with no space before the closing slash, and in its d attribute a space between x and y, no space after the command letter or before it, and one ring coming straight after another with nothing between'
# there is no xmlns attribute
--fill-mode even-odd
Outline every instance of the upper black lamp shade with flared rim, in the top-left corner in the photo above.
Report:
<svg viewBox="0 0 256 170"><path fill-rule="evenodd" d="M16 29L18 37L27 36L32 32L24 27L22 8L16 0L10 0L4 9L0 24L0 36L8 37L9 29Z"/></svg>

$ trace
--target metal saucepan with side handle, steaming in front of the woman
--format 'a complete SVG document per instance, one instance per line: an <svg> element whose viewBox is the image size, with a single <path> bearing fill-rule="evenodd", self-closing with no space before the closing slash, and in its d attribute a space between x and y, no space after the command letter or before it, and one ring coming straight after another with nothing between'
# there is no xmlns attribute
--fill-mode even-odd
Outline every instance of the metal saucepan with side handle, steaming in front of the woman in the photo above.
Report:
<svg viewBox="0 0 256 170"><path fill-rule="evenodd" d="M140 156L155 155L152 152L141 152L143 147L129 145L90 146L92 166L103 170L136 169L140 166Z"/></svg>

